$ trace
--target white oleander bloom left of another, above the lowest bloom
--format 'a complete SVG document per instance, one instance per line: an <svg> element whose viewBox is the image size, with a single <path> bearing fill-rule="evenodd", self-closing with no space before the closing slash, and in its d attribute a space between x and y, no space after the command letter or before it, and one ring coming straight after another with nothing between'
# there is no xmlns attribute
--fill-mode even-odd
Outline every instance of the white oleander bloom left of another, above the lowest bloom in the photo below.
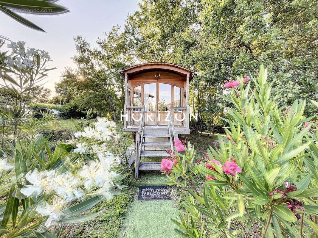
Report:
<svg viewBox="0 0 318 238"><path fill-rule="evenodd" d="M55 170L50 171L40 171L35 169L33 172L31 170L25 175L27 181L32 185L25 185L21 188L21 193L26 196L31 196L33 194L42 195L44 192L50 194L53 189L53 178L55 175Z"/></svg>

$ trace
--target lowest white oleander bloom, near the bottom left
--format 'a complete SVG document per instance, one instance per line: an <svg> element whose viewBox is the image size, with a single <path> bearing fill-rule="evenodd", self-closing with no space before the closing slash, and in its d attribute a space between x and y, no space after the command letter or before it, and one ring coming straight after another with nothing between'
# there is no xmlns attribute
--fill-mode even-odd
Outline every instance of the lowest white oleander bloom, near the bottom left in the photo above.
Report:
<svg viewBox="0 0 318 238"><path fill-rule="evenodd" d="M50 228L54 226L57 221L61 219L63 215L63 207L65 204L65 200L61 197L54 197L53 204L50 205L47 202L43 206L37 206L35 209L41 215L49 216L48 219L45 221L45 227Z"/></svg>

